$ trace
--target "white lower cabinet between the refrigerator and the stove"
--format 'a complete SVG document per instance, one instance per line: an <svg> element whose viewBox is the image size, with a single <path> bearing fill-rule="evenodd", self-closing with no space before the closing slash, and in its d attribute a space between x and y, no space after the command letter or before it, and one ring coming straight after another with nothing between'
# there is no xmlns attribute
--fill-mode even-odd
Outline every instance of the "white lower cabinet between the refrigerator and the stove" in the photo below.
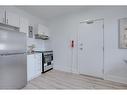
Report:
<svg viewBox="0 0 127 95"><path fill-rule="evenodd" d="M27 56L27 81L38 77L42 72L42 58L40 53Z"/></svg>

